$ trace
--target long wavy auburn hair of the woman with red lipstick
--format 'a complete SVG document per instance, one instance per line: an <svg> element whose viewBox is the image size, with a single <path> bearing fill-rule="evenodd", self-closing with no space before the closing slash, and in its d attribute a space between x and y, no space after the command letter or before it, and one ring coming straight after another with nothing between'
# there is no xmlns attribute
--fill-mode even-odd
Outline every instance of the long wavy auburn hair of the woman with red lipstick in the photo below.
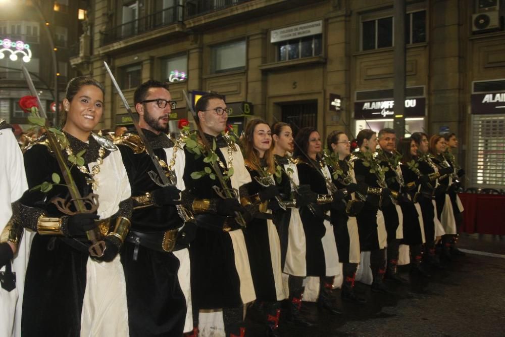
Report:
<svg viewBox="0 0 505 337"><path fill-rule="evenodd" d="M245 126L244 136L242 138L242 149L244 150L244 162L249 166L254 168L255 170L263 170L262 167L259 167L260 164L260 154L258 150L254 148L254 130L257 125L266 124L265 121L261 119L252 119ZM269 126L270 127L270 126ZM263 158L267 163L267 172L273 174L275 172L274 165L274 154L273 154L273 145L272 142L270 145L270 149L265 151L265 155Z"/></svg>

